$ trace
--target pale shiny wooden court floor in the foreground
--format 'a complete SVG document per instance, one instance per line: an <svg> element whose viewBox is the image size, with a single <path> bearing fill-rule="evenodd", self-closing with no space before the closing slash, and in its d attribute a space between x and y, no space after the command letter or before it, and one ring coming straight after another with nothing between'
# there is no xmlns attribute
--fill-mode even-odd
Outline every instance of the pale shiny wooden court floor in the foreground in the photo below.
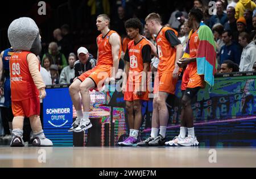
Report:
<svg viewBox="0 0 256 179"><path fill-rule="evenodd" d="M0 167L256 167L256 148L2 146Z"/></svg>

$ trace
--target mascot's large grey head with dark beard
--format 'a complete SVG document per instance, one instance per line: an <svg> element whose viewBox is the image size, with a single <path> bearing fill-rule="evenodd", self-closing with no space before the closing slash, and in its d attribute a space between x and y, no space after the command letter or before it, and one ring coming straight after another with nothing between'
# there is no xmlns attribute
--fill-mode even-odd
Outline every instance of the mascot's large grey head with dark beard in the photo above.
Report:
<svg viewBox="0 0 256 179"><path fill-rule="evenodd" d="M15 51L30 51L35 55L41 52L39 28L31 18L15 19L8 28L8 38Z"/></svg>

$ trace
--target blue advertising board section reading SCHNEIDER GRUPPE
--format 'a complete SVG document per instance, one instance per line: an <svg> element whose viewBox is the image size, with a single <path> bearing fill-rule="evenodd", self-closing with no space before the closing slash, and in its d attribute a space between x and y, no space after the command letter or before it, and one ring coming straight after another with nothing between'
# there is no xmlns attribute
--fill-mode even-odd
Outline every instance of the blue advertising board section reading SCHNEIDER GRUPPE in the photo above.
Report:
<svg viewBox="0 0 256 179"><path fill-rule="evenodd" d="M43 101L44 134L53 145L73 145L73 105L68 88L47 86Z"/></svg>

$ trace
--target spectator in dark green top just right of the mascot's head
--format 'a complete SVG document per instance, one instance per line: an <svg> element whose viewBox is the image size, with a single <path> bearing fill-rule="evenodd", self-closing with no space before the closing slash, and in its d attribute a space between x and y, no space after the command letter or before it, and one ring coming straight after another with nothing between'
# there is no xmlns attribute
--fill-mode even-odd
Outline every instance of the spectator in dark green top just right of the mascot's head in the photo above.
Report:
<svg viewBox="0 0 256 179"><path fill-rule="evenodd" d="M55 64L58 66L59 72L61 72L61 69L63 69L65 66L68 65L64 54L58 50L58 45L56 42L51 42L49 44L48 53L44 54L43 60L42 60L42 65L44 64L45 56L52 57L52 64Z"/></svg>

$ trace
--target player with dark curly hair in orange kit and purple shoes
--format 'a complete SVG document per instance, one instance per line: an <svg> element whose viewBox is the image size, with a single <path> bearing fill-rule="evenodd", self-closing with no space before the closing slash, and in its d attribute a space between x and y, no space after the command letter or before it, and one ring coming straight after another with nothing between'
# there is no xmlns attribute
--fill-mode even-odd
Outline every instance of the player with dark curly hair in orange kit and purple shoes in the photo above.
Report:
<svg viewBox="0 0 256 179"><path fill-rule="evenodd" d="M150 70L151 47L150 42L141 35L143 26L139 19L127 20L125 28L132 39L124 57L126 76L122 86L130 135L118 145L133 146L137 143L141 127L142 101L148 101L147 72Z"/></svg>

